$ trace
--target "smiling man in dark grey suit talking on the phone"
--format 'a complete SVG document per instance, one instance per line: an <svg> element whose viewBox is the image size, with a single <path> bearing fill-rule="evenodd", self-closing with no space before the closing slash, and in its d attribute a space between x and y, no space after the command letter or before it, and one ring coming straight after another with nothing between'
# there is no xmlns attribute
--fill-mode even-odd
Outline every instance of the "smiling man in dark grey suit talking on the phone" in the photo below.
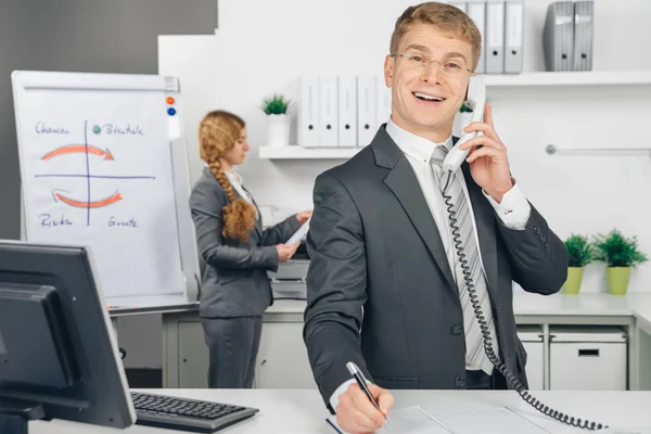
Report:
<svg viewBox="0 0 651 434"><path fill-rule="evenodd" d="M441 163L456 142L452 122L480 48L459 9L408 8L385 60L391 118L369 146L316 180L304 340L323 400L347 432L384 423L388 388L512 387L486 356L464 271L495 355L525 387L512 282L546 295L565 281L564 245L511 177L488 104L484 122L464 129L483 135L462 145L471 152L446 190L467 269L459 264ZM347 361L372 383L382 412Z"/></svg>

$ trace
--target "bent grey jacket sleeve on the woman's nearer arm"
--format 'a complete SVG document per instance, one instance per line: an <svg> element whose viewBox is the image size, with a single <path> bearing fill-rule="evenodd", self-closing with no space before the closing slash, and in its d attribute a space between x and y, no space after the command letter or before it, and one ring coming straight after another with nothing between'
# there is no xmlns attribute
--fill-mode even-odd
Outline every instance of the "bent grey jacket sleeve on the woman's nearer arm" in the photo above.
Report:
<svg viewBox="0 0 651 434"><path fill-rule="evenodd" d="M190 195L190 209L196 243L203 260L215 268L278 269L278 251L275 246L227 245L221 230L221 208L228 203L219 186L199 183Z"/></svg>

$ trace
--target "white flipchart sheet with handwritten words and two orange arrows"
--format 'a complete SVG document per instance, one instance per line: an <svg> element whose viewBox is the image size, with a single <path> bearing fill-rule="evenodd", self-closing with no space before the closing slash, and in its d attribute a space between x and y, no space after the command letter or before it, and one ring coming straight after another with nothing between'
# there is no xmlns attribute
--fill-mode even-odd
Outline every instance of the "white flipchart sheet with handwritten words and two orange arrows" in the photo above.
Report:
<svg viewBox="0 0 651 434"><path fill-rule="evenodd" d="M34 89L22 103L29 240L90 246L108 296L180 291L164 92Z"/></svg>

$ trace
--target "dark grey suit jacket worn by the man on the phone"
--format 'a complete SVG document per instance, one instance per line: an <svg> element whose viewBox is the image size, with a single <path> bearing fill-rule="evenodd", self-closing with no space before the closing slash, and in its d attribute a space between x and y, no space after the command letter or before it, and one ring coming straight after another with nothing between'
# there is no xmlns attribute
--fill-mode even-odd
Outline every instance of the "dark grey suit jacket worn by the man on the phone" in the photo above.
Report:
<svg viewBox="0 0 651 434"><path fill-rule="evenodd" d="M350 379L347 361L390 390L465 387L458 290L413 169L384 127L370 146L321 174L314 189L304 340L329 408L332 393ZM507 228L468 163L462 169L500 359L527 386L512 281L527 292L558 292L567 272L565 247L533 206L525 230Z"/></svg>

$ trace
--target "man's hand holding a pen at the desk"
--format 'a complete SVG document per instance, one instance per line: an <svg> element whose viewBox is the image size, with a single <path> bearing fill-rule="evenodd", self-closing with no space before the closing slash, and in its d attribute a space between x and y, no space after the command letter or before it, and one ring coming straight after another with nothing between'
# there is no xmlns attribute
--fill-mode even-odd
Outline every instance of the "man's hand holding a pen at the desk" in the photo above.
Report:
<svg viewBox="0 0 651 434"><path fill-rule="evenodd" d="M356 383L350 384L348 390L340 396L339 405L334 411L336 412L336 423L345 432L369 434L384 425L385 417L391 411L394 397L391 392L374 384L369 384L369 391L382 411L378 411L373 403Z"/></svg>

